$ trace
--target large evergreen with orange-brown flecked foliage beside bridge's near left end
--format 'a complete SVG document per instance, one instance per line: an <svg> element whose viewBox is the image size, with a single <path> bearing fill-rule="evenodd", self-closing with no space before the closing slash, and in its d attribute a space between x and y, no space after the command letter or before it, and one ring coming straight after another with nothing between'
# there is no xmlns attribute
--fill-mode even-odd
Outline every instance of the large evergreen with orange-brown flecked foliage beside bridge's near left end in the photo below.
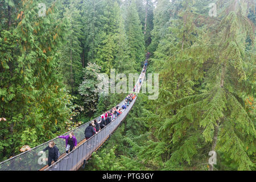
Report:
<svg viewBox="0 0 256 182"><path fill-rule="evenodd" d="M46 16L39 16L38 1L1 4L7 15L1 14L0 32L0 115L7 119L0 122L2 159L17 154L26 136L35 146L65 131L71 110L56 71L66 31L65 19L56 21L57 3Z"/></svg>

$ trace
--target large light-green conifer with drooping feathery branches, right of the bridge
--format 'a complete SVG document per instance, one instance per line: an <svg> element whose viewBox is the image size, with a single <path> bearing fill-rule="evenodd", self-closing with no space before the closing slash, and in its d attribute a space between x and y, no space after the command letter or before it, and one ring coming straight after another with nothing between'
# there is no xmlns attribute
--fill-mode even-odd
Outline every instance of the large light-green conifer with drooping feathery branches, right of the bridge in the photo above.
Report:
<svg viewBox="0 0 256 182"><path fill-rule="evenodd" d="M164 123L158 136L172 148L167 166L204 163L200 158L204 156L207 162L208 152L216 151L220 160L232 160L229 167L254 168L255 128L243 104L243 96L253 94L254 88L249 65L255 56L245 49L247 35L254 42L247 5L246 1L229 1L219 15L221 21L209 25L217 28L208 34L197 31L196 39L191 25L184 24L188 37L180 39L179 49L163 64L161 87L170 92L159 97L170 97L171 102L159 110L159 122ZM193 17L187 14L183 20L196 22ZM170 85L170 78L177 85ZM183 94L177 95L179 90Z"/></svg>

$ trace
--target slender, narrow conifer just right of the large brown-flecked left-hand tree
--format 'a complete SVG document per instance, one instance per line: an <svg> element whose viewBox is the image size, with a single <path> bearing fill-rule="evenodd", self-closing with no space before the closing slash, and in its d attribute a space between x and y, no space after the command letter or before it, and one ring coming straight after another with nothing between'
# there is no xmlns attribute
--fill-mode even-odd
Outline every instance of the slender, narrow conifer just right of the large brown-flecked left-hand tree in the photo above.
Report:
<svg viewBox="0 0 256 182"><path fill-rule="evenodd" d="M68 19L67 38L60 49L60 71L67 89L72 94L78 94L78 87L82 81L81 43L82 22L77 1L65 2L63 16Z"/></svg>

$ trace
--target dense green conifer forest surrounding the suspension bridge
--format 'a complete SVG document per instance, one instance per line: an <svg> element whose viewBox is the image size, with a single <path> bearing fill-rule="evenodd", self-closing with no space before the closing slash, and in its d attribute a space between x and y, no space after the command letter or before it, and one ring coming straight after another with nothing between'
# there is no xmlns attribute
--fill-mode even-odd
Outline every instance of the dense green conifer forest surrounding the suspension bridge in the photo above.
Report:
<svg viewBox="0 0 256 182"><path fill-rule="evenodd" d="M115 106L98 75L150 52L158 98L81 170L256 170L255 19L254 0L0 0L0 161Z"/></svg>

